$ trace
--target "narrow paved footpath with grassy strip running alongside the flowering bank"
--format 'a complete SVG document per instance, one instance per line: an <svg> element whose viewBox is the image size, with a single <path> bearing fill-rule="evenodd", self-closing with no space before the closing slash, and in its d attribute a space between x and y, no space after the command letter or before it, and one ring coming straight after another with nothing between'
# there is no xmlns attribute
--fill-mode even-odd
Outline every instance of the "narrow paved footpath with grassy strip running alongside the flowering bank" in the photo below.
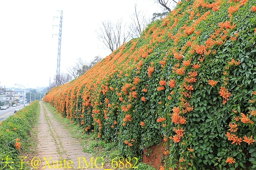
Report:
<svg viewBox="0 0 256 170"><path fill-rule="evenodd" d="M99 163L95 165L96 162ZM38 170L104 170L100 162L100 158L96 160L91 154L83 152L78 140L72 137L44 102L40 101L38 155L31 161L32 167Z"/></svg>

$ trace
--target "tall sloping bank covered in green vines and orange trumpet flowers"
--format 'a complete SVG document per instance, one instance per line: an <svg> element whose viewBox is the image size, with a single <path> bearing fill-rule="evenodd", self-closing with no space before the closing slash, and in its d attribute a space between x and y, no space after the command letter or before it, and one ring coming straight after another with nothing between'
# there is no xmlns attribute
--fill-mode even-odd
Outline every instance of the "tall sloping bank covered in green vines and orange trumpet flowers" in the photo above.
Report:
<svg viewBox="0 0 256 170"><path fill-rule="evenodd" d="M256 0L182 0L44 101L160 169L256 168Z"/></svg>

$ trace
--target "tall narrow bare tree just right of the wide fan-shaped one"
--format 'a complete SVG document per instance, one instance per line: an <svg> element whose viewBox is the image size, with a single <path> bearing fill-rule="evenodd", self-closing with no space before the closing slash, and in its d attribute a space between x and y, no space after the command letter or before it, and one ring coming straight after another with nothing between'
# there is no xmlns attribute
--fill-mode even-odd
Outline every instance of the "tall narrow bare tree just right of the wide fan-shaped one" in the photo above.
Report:
<svg viewBox="0 0 256 170"><path fill-rule="evenodd" d="M131 16L132 23L129 26L131 36L133 38L139 38L146 26L150 23L150 19L147 18L143 12L138 11L137 4L134 5L134 13Z"/></svg>

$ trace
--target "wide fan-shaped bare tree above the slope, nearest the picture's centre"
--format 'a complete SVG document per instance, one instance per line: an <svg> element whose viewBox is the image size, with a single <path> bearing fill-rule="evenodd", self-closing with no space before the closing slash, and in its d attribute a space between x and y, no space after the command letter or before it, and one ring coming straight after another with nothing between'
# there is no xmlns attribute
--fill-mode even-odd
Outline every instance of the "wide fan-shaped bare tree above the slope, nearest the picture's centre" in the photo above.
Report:
<svg viewBox="0 0 256 170"><path fill-rule="evenodd" d="M113 52L130 39L130 33L124 28L125 25L123 25L122 19L118 20L115 24L108 20L102 22L100 30L96 30L96 34L98 35L98 39L104 43L107 49L110 49Z"/></svg>

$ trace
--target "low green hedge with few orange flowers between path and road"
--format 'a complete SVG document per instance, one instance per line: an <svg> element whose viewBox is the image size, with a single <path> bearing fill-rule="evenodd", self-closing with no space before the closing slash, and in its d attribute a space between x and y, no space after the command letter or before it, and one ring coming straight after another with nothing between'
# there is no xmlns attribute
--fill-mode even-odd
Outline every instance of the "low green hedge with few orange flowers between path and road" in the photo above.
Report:
<svg viewBox="0 0 256 170"><path fill-rule="evenodd" d="M20 162L19 157L24 146L30 143L28 134L32 128L38 107L39 102L34 101L0 123L0 169L21 168L21 163L17 162ZM6 164L6 162L9 163ZM26 168L25 164L22 168Z"/></svg>

